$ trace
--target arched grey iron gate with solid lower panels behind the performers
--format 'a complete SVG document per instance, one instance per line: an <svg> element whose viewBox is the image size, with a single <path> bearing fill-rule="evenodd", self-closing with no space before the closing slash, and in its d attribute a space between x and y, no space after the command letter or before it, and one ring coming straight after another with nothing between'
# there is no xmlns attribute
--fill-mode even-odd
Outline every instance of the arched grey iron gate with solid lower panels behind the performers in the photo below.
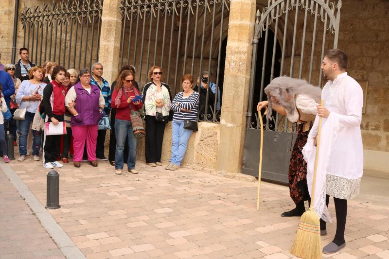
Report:
<svg viewBox="0 0 389 259"><path fill-rule="evenodd" d="M320 64L324 51L337 46L341 4L341 0L269 0L262 13L257 11L243 173L258 175L259 120L264 120L262 178L288 182L289 159L296 136L292 124L277 113L271 121L265 116L259 118L253 110L256 111L259 101L266 100L264 87L273 77L305 78L321 86ZM320 22L322 25L318 25Z"/></svg>

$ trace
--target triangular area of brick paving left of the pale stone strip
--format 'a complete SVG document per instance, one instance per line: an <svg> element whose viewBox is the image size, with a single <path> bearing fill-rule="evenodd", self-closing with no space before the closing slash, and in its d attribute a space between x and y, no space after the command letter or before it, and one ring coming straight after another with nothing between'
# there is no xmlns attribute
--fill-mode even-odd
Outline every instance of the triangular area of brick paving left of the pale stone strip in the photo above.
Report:
<svg viewBox="0 0 389 259"><path fill-rule="evenodd" d="M0 170L0 259L65 258Z"/></svg>

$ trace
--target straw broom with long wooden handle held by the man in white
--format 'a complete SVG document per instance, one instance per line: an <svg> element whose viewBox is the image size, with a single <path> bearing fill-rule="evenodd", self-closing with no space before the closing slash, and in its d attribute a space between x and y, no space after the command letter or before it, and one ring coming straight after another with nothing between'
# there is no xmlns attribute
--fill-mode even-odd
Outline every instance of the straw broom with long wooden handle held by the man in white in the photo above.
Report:
<svg viewBox="0 0 389 259"><path fill-rule="evenodd" d="M323 105L324 100L321 100ZM315 208L315 189L316 175L318 173L318 156L321 137L321 121L319 117L318 138L316 141L315 170L313 173L311 207L302 214L300 224L297 228L295 241L293 242L290 253L303 259L321 259L321 242L320 242L320 218Z"/></svg>

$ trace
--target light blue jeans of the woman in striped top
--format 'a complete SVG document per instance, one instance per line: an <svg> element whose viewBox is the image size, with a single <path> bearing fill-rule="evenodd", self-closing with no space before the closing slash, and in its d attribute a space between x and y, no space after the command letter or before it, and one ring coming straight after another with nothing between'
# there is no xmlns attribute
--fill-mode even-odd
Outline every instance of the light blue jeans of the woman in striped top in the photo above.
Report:
<svg viewBox="0 0 389 259"><path fill-rule="evenodd" d="M181 165L184 158L188 140L192 135L192 130L184 129L184 121L173 120L172 124L172 156L170 163L177 166Z"/></svg>

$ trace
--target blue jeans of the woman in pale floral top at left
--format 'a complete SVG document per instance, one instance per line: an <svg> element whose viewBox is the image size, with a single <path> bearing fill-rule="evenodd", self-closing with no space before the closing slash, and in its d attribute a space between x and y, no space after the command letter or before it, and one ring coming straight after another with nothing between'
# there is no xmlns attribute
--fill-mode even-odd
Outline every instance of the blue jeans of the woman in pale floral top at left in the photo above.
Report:
<svg viewBox="0 0 389 259"><path fill-rule="evenodd" d="M34 119L35 113L26 111L26 116L23 121L19 121L19 153L27 155L27 136L30 131L31 122ZM41 132L33 130L33 155L39 155Z"/></svg>

